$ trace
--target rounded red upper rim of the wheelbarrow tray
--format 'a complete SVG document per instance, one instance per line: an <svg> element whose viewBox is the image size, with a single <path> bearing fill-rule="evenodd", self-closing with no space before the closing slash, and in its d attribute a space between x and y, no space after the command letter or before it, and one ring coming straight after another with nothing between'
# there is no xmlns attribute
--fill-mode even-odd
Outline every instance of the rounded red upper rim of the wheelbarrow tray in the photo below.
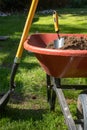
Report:
<svg viewBox="0 0 87 130"><path fill-rule="evenodd" d="M49 33L47 33L48 35ZM35 34L37 35L40 35L40 34ZM43 35L43 34L42 34ZM63 36L64 34L62 34ZM72 35L79 35L79 34L65 34L67 36L72 36ZM34 45L33 42L30 41L31 37L34 36L34 35L30 35L28 37L28 39L24 42L24 48L27 50L27 51L31 51L31 52L34 52L34 53L38 53L38 54L44 54L44 55L57 55L57 56L87 56L87 50L58 50L58 49L47 49L47 48L42 48L42 47L38 47L37 45ZM86 36L87 35L79 35L79 36ZM39 44L39 43L37 43Z"/></svg>

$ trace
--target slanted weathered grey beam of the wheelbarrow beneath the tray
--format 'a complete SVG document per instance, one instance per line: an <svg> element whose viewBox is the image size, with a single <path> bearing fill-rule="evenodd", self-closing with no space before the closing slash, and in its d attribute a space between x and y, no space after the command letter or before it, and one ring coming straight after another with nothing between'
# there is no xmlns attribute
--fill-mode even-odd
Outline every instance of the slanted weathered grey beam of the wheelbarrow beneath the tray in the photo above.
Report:
<svg viewBox="0 0 87 130"><path fill-rule="evenodd" d="M69 130L76 130L76 125L75 125L75 122L74 122L74 120L72 118L72 115L71 115L71 113L69 111L69 108L68 108L68 105L66 103L66 100L65 100L64 94L62 92L62 89L60 87L59 79L58 78L53 78L53 84L54 84L53 88L54 88L54 90L56 92L56 95L58 97L59 104L60 104L62 112L64 114L68 129Z"/></svg>

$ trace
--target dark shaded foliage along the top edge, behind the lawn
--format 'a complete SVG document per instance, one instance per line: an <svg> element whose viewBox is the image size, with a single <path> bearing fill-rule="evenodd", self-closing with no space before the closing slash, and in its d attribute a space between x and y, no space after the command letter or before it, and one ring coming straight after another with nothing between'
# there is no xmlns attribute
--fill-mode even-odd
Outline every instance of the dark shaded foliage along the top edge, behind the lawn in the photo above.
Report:
<svg viewBox="0 0 87 130"><path fill-rule="evenodd" d="M0 10L23 10L29 8L32 0L0 0ZM83 7L87 0L39 0L38 9L52 9L61 7Z"/></svg>

